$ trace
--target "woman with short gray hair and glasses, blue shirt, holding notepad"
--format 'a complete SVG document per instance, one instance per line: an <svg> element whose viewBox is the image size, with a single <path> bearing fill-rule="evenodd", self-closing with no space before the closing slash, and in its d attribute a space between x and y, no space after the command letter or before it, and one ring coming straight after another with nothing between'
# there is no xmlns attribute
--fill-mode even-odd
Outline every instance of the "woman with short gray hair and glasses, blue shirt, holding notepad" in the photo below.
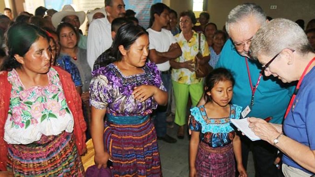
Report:
<svg viewBox="0 0 315 177"><path fill-rule="evenodd" d="M249 126L262 140L284 152L284 176L310 177L315 173L315 53L303 29L286 19L262 26L250 49L252 57L263 64L266 76L298 83L283 125L249 118Z"/></svg>

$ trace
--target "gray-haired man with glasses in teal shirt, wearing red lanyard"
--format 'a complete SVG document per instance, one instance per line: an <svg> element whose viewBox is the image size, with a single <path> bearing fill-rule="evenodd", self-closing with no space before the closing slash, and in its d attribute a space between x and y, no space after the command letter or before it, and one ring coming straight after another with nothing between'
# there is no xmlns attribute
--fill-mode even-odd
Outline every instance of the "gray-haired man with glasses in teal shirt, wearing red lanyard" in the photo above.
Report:
<svg viewBox="0 0 315 177"><path fill-rule="evenodd" d="M232 9L225 24L230 39L221 51L216 68L223 67L232 72L235 78L232 103L250 109L247 115L243 114L244 118L272 117L271 123L282 124L294 86L265 77L261 65L251 60L249 54L253 35L265 23L265 13L254 3L245 3ZM252 142L246 136L241 136L241 140L245 168L252 146L255 177L278 177L281 174L274 164L278 152L274 146L262 140Z"/></svg>

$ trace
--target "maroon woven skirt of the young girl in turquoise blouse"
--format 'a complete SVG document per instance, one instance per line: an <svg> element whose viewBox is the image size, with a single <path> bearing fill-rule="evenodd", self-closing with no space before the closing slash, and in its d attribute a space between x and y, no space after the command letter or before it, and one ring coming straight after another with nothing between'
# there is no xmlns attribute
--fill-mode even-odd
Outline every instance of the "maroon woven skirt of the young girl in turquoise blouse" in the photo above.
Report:
<svg viewBox="0 0 315 177"><path fill-rule="evenodd" d="M198 177L235 177L232 143L222 148L211 148L200 142L195 167Z"/></svg>

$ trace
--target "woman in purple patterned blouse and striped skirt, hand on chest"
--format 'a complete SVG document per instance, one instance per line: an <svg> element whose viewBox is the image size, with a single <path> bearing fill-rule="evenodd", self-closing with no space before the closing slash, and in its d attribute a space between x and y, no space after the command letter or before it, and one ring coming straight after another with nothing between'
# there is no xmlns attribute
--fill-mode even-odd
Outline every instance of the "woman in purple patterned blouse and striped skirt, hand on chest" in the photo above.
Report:
<svg viewBox="0 0 315 177"><path fill-rule="evenodd" d="M93 72L91 135L95 163L113 160L113 175L160 177L152 109L167 103L154 63L147 63L149 37L139 25L122 25L108 57L110 64ZM104 124L104 116L106 122Z"/></svg>

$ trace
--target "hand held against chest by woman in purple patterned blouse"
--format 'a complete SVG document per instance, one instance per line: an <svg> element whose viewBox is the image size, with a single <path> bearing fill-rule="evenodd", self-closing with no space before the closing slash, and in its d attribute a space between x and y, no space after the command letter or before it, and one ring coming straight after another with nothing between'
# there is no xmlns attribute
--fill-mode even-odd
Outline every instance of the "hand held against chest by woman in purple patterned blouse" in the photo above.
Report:
<svg viewBox="0 0 315 177"><path fill-rule="evenodd" d="M140 102L146 101L157 92L157 87L152 85L141 85L133 88L133 98Z"/></svg>

